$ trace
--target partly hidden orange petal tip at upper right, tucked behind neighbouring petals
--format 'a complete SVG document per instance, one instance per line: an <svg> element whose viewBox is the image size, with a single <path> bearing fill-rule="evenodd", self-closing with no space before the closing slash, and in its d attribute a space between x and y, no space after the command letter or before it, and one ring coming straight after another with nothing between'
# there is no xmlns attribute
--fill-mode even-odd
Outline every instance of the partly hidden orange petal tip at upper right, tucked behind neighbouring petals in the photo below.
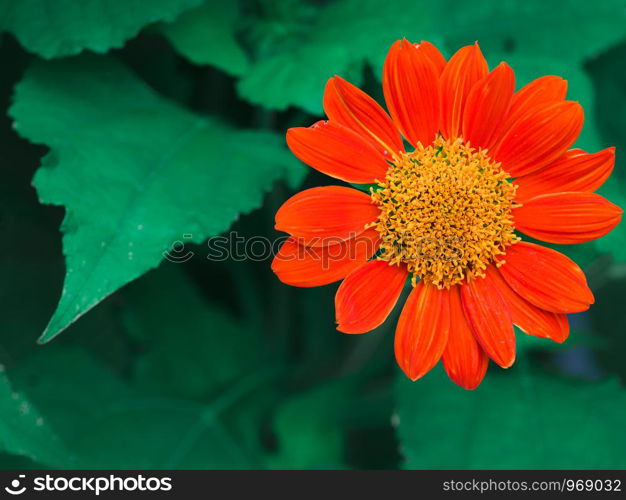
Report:
<svg viewBox="0 0 626 500"><path fill-rule="evenodd" d="M558 76L542 76L524 85L513 94L504 129L508 130L536 106L563 101L566 94L567 80Z"/></svg>

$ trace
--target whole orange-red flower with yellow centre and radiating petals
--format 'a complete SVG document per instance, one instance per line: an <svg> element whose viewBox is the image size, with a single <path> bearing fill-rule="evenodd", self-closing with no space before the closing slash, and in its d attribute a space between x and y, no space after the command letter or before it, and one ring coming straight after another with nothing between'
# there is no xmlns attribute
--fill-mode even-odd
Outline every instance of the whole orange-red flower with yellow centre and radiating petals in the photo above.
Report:
<svg viewBox="0 0 626 500"><path fill-rule="evenodd" d="M475 388L489 358L513 364L513 325L563 342L566 314L588 309L593 294L574 262L518 232L580 243L622 214L594 193L613 170L614 148L570 149L583 110L566 90L544 76L515 92L513 70L489 71L478 44L446 61L432 44L406 40L384 65L389 115L331 78L328 121L290 129L287 143L311 167L369 184L369 194L327 186L287 200L276 228L291 236L272 269L295 286L343 279L335 307L345 333L379 326L411 277L395 354L413 380L441 358L454 382Z"/></svg>

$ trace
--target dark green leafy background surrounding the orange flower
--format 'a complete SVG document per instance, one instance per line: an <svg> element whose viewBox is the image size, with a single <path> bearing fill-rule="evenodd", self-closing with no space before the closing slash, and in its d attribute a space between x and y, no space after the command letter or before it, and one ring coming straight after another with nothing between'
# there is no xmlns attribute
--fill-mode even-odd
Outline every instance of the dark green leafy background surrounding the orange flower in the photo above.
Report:
<svg viewBox="0 0 626 500"><path fill-rule="evenodd" d="M473 392L407 381L395 318L338 333L336 285L205 243L276 237L288 196L332 182L285 130L334 74L380 99L401 37L569 80L625 207L625 1L0 0L0 30L1 467L626 466L624 225L561 248L596 294L567 343L519 334ZM164 261L176 241L193 258Z"/></svg>

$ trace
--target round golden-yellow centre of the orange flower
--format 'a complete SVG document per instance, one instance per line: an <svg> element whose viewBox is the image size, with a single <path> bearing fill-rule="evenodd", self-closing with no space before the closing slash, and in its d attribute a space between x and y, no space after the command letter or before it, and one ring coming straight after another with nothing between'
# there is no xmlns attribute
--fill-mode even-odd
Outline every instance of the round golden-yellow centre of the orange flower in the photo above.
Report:
<svg viewBox="0 0 626 500"><path fill-rule="evenodd" d="M511 209L515 185L485 150L438 137L394 162L371 189L380 208L373 224L378 259L407 264L439 288L484 276L506 247L519 241Z"/></svg>

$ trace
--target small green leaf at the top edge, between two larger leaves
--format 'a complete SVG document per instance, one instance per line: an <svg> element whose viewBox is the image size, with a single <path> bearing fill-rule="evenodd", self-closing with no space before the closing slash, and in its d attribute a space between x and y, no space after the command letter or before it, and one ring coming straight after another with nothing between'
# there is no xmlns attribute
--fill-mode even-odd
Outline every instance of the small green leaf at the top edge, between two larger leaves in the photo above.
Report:
<svg viewBox="0 0 626 500"><path fill-rule="evenodd" d="M240 76L248 68L248 56L235 38L238 20L237 2L207 2L159 30L192 63Z"/></svg>

